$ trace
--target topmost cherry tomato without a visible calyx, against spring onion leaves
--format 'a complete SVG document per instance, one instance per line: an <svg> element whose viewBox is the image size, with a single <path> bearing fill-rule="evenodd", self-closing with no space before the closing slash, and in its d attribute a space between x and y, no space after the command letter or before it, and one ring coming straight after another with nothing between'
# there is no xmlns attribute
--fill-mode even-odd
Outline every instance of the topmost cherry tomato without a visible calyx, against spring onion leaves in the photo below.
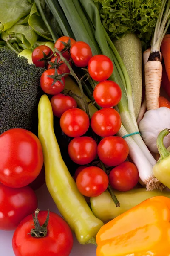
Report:
<svg viewBox="0 0 170 256"><path fill-rule="evenodd" d="M77 67L85 67L92 57L91 47L85 42L78 41L70 48L71 58Z"/></svg>

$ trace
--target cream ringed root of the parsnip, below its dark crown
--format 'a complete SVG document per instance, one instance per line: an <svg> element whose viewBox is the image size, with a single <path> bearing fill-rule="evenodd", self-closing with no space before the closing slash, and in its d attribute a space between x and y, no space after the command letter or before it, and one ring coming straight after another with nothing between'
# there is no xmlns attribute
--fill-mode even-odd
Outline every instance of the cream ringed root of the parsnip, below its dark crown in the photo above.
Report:
<svg viewBox="0 0 170 256"><path fill-rule="evenodd" d="M145 86L147 110L159 108L162 64L160 61L147 61L145 65Z"/></svg>

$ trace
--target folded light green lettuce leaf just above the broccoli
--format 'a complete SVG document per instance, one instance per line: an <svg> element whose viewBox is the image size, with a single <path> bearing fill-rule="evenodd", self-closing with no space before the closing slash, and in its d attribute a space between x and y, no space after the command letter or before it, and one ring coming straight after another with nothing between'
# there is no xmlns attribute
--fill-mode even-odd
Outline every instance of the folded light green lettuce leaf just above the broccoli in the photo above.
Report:
<svg viewBox="0 0 170 256"><path fill-rule="evenodd" d="M1 38L5 41L9 39L16 42L22 42L29 49L38 39L38 35L29 25L14 25L6 32L2 32Z"/></svg>

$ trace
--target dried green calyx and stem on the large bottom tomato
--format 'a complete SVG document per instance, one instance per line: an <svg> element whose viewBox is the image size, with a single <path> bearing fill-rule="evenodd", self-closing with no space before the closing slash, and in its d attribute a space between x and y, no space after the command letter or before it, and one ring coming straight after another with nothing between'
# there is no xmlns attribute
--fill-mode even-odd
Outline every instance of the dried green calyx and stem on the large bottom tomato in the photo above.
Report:
<svg viewBox="0 0 170 256"><path fill-rule="evenodd" d="M34 227L32 228L30 233L32 237L34 238L42 238L45 237L47 235L47 226L48 226L48 221L49 221L49 217L50 217L50 212L48 209L48 214L47 214L47 218L44 222L44 224L42 226L40 226L40 222L38 220L38 214L39 214L40 210L37 209L35 211L35 216L33 215L33 221L34 221Z"/></svg>

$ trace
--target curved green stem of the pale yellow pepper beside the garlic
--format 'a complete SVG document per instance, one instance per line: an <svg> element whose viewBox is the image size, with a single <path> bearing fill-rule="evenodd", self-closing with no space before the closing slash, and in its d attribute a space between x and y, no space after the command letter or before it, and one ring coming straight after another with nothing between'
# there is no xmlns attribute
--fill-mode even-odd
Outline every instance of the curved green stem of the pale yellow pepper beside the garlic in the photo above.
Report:
<svg viewBox="0 0 170 256"><path fill-rule="evenodd" d="M156 141L161 159L164 159L165 157L170 155L170 152L164 146L164 137L167 136L169 133L170 129L164 129L159 133Z"/></svg>

